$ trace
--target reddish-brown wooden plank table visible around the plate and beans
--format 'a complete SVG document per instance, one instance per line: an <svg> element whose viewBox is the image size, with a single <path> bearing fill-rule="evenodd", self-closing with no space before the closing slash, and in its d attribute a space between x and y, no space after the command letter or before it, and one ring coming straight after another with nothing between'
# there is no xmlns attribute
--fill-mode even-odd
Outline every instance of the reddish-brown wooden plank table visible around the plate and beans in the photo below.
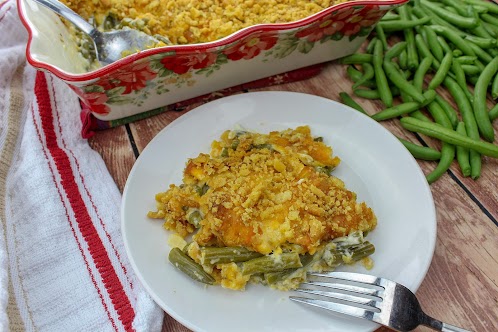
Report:
<svg viewBox="0 0 498 332"><path fill-rule="evenodd" d="M346 78L344 66L331 62L317 76L264 90L304 92L339 100L339 92L351 92L351 82ZM451 100L444 91L440 92ZM369 113L382 107L376 101L358 102ZM192 105L195 106L198 104ZM147 143L185 112L188 109L170 111L100 131L89 140L121 191ZM397 120L382 124L392 133L420 144ZM498 129L498 121L494 127ZM438 142L427 137L422 139L429 146L439 148ZM419 161L419 165L427 174L436 164ZM421 305L429 315L450 324L472 331L498 331L498 160L484 158L482 175L477 181L464 178L454 162L450 170L431 185L431 190L437 209L437 242L427 276L417 291ZM189 330L165 314L163 331Z"/></svg>

